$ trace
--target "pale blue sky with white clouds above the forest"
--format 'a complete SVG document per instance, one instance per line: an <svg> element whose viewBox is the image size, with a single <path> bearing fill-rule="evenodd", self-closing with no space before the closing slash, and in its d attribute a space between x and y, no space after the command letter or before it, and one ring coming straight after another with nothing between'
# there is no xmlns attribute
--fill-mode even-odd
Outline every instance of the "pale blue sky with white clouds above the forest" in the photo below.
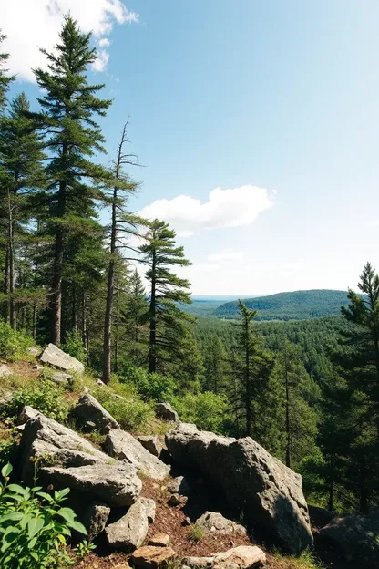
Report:
<svg viewBox="0 0 379 569"><path fill-rule="evenodd" d="M96 31L109 158L130 116L145 164L131 207L178 230L195 294L345 289L366 260L379 269L377 0L13 4L13 91L30 98L52 6Z"/></svg>

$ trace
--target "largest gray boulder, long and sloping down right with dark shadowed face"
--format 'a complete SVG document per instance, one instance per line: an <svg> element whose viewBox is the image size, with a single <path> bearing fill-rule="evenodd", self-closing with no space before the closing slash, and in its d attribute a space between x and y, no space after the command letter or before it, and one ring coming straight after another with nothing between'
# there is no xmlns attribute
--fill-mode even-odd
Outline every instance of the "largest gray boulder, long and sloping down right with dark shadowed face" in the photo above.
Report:
<svg viewBox="0 0 379 569"><path fill-rule="evenodd" d="M251 437L218 437L179 423L166 443L174 460L205 475L234 512L243 512L284 551L298 554L312 547L302 477Z"/></svg>

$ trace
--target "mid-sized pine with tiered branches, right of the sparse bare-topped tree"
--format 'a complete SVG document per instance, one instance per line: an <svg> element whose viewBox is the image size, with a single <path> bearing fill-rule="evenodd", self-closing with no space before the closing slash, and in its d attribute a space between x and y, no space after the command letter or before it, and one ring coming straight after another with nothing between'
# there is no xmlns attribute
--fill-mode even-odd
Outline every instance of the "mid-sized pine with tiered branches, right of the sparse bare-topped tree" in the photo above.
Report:
<svg viewBox="0 0 379 569"><path fill-rule="evenodd" d="M143 262L149 269L149 373L162 370L165 361L179 351L190 317L178 303L189 304L189 281L172 273L172 266L188 266L183 247L175 244L176 233L169 224L154 220L140 246Z"/></svg>

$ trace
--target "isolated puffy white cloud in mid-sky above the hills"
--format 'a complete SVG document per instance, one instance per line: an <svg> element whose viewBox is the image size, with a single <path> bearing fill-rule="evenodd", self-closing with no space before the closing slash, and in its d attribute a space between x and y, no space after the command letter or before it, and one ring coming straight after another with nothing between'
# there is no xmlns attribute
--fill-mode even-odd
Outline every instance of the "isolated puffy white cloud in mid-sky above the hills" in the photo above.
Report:
<svg viewBox="0 0 379 569"><path fill-rule="evenodd" d="M203 229L238 227L254 222L259 213L273 205L273 197L265 188L241 186L210 191L208 202L188 195L172 200L157 200L144 207L139 214L148 219L159 218L169 222L177 233L186 237Z"/></svg>

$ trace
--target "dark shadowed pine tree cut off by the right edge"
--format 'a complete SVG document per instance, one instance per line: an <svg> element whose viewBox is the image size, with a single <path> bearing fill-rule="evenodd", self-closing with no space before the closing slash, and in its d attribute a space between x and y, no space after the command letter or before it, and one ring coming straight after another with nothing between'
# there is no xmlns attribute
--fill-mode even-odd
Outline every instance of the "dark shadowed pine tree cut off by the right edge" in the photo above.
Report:
<svg viewBox="0 0 379 569"><path fill-rule="evenodd" d="M349 290L350 305L342 308L352 326L333 354L340 381L330 398L342 425L344 485L367 512L379 493L379 277L371 264L358 287L363 294Z"/></svg>

